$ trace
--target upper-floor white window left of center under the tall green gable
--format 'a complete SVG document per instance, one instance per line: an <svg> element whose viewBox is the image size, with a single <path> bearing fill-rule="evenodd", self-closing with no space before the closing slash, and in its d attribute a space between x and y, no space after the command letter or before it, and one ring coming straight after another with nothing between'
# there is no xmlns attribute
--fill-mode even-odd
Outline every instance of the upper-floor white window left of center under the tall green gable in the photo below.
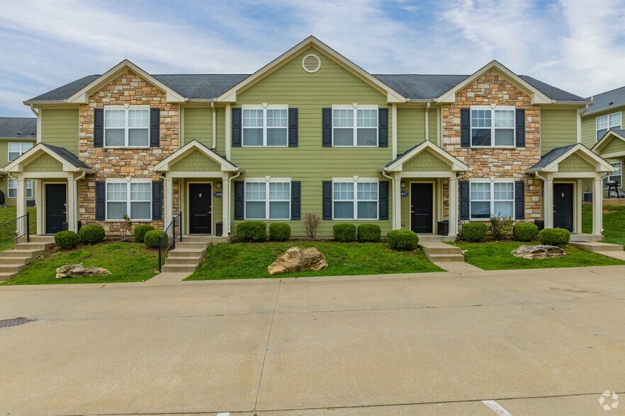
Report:
<svg viewBox="0 0 625 416"><path fill-rule="evenodd" d="M288 105L242 110L243 146L288 146Z"/></svg>

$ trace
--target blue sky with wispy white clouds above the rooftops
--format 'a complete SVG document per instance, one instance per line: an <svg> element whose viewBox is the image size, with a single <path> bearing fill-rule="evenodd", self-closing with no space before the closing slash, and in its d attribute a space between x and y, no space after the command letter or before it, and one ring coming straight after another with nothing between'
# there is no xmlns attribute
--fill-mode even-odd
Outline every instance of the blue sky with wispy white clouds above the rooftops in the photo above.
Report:
<svg viewBox="0 0 625 416"><path fill-rule="evenodd" d="M0 0L0 116L123 59L249 74L308 35L371 74L471 74L492 59L580 96L625 86L625 0Z"/></svg>

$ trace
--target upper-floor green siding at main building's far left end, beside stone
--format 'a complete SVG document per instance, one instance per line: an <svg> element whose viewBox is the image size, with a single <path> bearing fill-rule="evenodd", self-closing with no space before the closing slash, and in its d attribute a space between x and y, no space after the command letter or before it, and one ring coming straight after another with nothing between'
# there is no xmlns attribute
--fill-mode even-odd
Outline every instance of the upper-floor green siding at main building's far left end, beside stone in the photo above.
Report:
<svg viewBox="0 0 625 416"><path fill-rule="evenodd" d="M78 109L44 108L41 111L41 141L61 146L78 155Z"/></svg>

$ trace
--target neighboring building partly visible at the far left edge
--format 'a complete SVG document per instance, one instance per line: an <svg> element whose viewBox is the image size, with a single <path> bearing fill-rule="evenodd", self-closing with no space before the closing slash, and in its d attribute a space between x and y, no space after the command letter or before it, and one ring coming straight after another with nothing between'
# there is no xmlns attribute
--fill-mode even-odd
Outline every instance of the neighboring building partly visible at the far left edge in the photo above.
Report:
<svg viewBox="0 0 625 416"><path fill-rule="evenodd" d="M26 153L37 142L37 119L34 117L0 117L0 158L1 166ZM17 201L17 179L0 175L0 191L4 195L4 205L15 206ZM26 183L28 205L35 204L33 180ZM0 205L1 206L1 205Z"/></svg>

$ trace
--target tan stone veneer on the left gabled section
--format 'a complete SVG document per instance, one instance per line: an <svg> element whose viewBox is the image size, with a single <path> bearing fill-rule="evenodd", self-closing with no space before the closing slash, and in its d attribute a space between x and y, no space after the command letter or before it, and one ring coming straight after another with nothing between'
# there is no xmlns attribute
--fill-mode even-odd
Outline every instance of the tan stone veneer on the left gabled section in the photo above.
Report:
<svg viewBox="0 0 625 416"><path fill-rule="evenodd" d="M142 149L94 147L94 108L105 105L150 105L160 108L160 146ZM122 221L96 221L96 181L107 178L145 178L154 175L154 165L179 148L179 105L167 103L166 94L126 71L89 97L89 104L79 108L79 158L96 170L79 185L79 221L83 225L100 224L108 235L120 235ZM174 212L178 209L178 183L174 181ZM138 224L137 222L133 225ZM142 221L163 228L163 221Z"/></svg>

